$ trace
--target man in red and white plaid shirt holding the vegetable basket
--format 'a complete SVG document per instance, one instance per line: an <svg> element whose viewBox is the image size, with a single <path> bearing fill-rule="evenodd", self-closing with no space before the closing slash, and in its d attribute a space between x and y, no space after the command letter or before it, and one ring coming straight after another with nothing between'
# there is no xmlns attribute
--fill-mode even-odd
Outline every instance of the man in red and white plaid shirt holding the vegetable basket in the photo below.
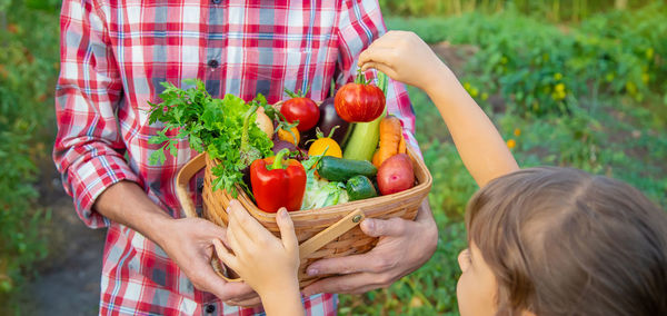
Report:
<svg viewBox="0 0 667 316"><path fill-rule="evenodd" d="M225 229L183 218L175 178L196 152L182 140L176 158L149 164L160 145L148 139L161 125L148 124L148 101L160 101L160 82L187 78L218 98L263 93L276 102L287 87L322 100L332 79L337 87L352 79L358 55L386 31L377 0L66 0L60 24L53 158L81 219L108 227L100 314L261 313L239 307L259 304L250 287L226 283L209 265L211 239ZM387 105L414 131L402 85L389 85ZM371 253L309 267L340 274L305 289L309 315L336 314L336 296L320 293L386 287L437 243L428 207L416 221L366 220L362 229L382 236Z"/></svg>

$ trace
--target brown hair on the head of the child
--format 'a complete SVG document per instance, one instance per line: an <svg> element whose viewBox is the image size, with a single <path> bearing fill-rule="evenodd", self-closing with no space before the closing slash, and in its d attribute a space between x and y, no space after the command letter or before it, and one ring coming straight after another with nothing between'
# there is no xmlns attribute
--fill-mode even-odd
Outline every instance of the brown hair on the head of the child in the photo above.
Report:
<svg viewBox="0 0 667 316"><path fill-rule="evenodd" d="M479 190L466 227L498 315L667 315L667 214L629 185L524 169Z"/></svg>

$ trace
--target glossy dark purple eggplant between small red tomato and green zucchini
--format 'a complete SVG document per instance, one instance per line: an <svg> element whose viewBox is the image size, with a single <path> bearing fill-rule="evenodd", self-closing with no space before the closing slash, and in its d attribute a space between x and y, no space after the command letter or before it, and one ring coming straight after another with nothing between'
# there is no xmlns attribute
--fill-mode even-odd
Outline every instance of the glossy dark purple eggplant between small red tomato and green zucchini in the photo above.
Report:
<svg viewBox="0 0 667 316"><path fill-rule="evenodd" d="M341 119L338 116L338 112L336 112L334 98L325 99L320 105L319 121L317 122L315 128L311 128L301 134L301 141L299 142L299 146L301 148L308 149L308 147L310 147L310 142L306 144L306 141L308 141L309 139L317 139L317 128L319 128L319 130L321 130L326 137L329 136L331 129L334 129L337 126L338 128L336 129L331 138L336 140L336 142L338 142L340 147L344 147L345 142L351 134L351 126L348 121Z"/></svg>

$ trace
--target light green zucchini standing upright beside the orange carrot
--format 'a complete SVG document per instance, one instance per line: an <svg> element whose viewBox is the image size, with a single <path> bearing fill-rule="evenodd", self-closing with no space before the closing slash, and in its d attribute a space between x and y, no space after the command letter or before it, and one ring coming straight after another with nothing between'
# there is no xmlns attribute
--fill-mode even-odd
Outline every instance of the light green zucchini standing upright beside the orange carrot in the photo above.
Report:
<svg viewBox="0 0 667 316"><path fill-rule="evenodd" d="M385 116L386 111L374 121L355 124L342 158L370 161L380 140L380 121Z"/></svg>

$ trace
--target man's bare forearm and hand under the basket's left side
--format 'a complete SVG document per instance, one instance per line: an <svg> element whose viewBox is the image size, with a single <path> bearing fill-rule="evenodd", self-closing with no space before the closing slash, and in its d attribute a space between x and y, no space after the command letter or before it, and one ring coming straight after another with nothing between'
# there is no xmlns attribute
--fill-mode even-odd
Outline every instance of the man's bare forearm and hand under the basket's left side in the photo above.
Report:
<svg viewBox="0 0 667 316"><path fill-rule="evenodd" d="M130 181L120 181L106 189L93 208L158 244L197 289L212 293L228 305L255 306L260 303L250 286L225 282L210 265L211 240L225 240L225 228L200 218L173 219Z"/></svg>

